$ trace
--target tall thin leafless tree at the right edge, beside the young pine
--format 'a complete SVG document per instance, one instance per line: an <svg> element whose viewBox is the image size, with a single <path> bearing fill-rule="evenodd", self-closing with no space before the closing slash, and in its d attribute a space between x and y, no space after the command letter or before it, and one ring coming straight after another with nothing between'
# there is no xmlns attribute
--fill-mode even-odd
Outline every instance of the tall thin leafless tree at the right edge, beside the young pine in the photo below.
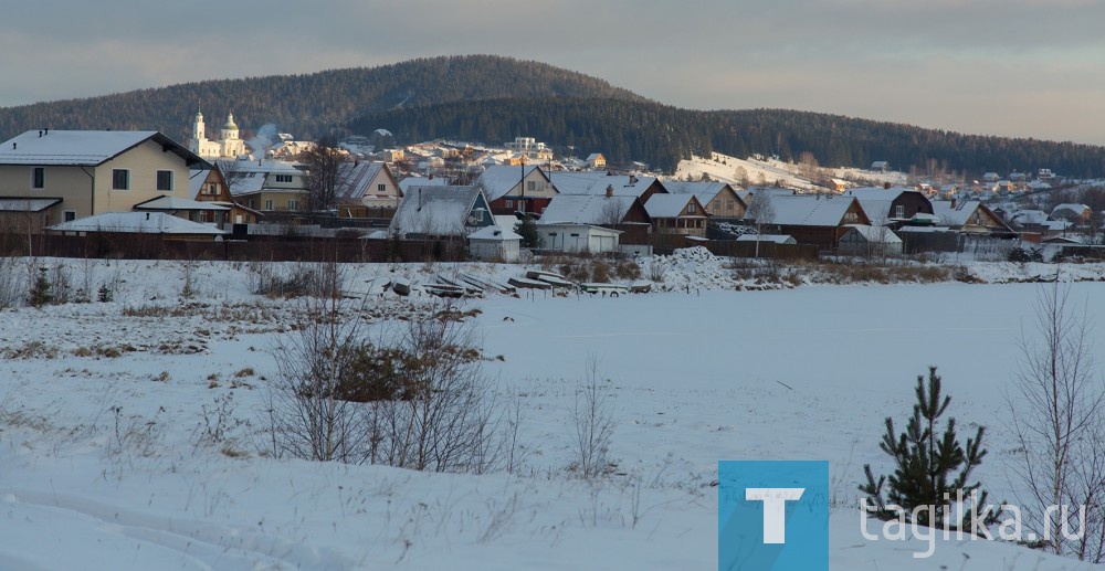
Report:
<svg viewBox="0 0 1105 571"><path fill-rule="evenodd" d="M1071 303L1070 287L1056 279L1038 294L1034 328L1034 336L1021 335L1020 363L1006 395L1019 444L1012 472L1034 508L1025 522L1050 539L1040 547L1102 562L1105 387L1091 353L1093 327L1085 307ZM1064 505L1073 509L1048 509ZM1086 506L1081 538L1065 533L1080 528L1077 506Z"/></svg>

